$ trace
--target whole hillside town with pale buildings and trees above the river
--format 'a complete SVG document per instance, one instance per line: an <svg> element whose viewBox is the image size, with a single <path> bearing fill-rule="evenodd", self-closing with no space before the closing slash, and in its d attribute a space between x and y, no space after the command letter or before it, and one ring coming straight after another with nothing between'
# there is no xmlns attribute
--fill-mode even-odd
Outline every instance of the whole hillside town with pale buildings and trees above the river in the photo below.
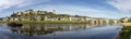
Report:
<svg viewBox="0 0 131 39"><path fill-rule="evenodd" d="M120 23L119 20L110 20L105 17L90 17L70 14L57 14L56 11L34 11L25 10L23 12L13 12L8 17L1 17L1 22L19 22L19 23Z"/></svg>

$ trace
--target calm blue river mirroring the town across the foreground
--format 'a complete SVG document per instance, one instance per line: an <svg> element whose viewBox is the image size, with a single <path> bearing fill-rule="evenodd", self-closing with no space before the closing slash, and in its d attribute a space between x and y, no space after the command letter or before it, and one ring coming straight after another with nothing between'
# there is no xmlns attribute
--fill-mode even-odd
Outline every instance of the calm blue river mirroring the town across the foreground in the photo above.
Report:
<svg viewBox="0 0 131 39"><path fill-rule="evenodd" d="M120 24L0 24L0 39L116 39L121 28Z"/></svg>

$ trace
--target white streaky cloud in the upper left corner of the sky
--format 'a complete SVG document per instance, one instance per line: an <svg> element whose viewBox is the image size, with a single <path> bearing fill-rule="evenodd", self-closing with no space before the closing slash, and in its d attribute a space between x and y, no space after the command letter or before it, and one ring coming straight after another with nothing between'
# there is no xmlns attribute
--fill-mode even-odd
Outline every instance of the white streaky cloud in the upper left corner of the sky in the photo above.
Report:
<svg viewBox="0 0 131 39"><path fill-rule="evenodd" d="M20 8L45 1L49 0L0 0L0 10L9 9L11 6Z"/></svg>

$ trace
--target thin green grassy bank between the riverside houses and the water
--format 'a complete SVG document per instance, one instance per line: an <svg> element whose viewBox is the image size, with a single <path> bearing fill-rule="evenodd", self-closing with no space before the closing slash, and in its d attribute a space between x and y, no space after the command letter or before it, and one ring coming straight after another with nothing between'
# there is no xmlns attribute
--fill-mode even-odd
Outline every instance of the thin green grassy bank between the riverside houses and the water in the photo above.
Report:
<svg viewBox="0 0 131 39"><path fill-rule="evenodd" d="M10 23L10 22L0 22L0 23ZM87 24L87 22L64 22L64 21L57 21L57 22L50 22L50 21L22 21L22 22L15 22L21 24Z"/></svg>

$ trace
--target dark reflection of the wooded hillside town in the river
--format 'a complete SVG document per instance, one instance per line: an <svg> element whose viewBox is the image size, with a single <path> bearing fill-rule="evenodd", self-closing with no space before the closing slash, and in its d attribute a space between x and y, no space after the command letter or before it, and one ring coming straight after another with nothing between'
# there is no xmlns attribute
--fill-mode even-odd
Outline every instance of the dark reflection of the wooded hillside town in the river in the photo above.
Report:
<svg viewBox="0 0 131 39"><path fill-rule="evenodd" d="M66 31L66 30L76 30L76 29L85 29L88 28L86 24L44 24L44 25L34 25L34 24L25 24L22 27L12 27L11 30L13 34L23 34L28 36L34 35L47 35L53 34L55 31Z"/></svg>

